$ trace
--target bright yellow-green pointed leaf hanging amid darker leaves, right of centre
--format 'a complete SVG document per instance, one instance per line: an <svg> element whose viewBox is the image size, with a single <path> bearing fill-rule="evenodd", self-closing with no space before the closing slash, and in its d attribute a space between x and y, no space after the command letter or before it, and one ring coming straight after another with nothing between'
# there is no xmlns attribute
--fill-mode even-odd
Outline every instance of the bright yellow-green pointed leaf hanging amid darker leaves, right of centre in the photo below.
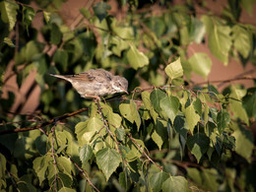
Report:
<svg viewBox="0 0 256 192"><path fill-rule="evenodd" d="M194 128L200 120L200 116L196 113L193 104L190 104L188 107L183 109L183 112L185 114L189 130L191 134L193 134Z"/></svg>

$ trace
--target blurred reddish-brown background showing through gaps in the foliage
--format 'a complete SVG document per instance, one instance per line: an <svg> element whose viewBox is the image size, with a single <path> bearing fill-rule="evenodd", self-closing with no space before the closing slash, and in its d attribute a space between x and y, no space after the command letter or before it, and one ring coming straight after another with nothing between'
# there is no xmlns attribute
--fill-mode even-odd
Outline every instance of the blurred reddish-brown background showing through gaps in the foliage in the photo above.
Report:
<svg viewBox="0 0 256 192"><path fill-rule="evenodd" d="M82 7L90 7L93 4L96 4L99 1L90 1L90 0L67 0L61 5L61 11L59 15L61 16L63 22L69 26L71 29L75 28L75 25L77 24L78 20L80 19L80 9ZM186 1L182 0L173 0L169 1L169 3L173 5L182 5ZM202 14L205 14L207 12L213 12L215 15L220 16L224 10L224 6L226 6L227 1L226 0L209 0L207 1L206 7L207 9L202 9L200 6L197 6L196 3L200 3L201 1L195 1L195 8L198 19L200 19L200 16ZM203 2L203 1L202 1ZM33 8L38 7L38 2L32 1L31 6ZM111 10L109 10L110 15L114 15L118 20L122 20L126 17L128 7L121 7L118 5L117 1L110 0L108 3L111 5ZM42 4L42 3L41 3ZM151 1L138 1L138 12L142 11L144 9L151 10L151 13L155 15L160 15L162 12L162 7L160 7L160 2L151 2ZM252 26L256 26L256 5L254 4L254 7L252 8L252 15L250 16L245 10L241 10L241 17L240 22L245 24L251 24ZM32 28L40 30L43 26L43 14L37 13L33 20L32 20ZM14 32L10 34L10 36L15 35ZM32 35L32 34L31 34ZM38 41L45 42L44 37L41 33L38 33L37 35ZM47 54L52 55L56 47L45 47L49 48L47 50ZM227 66L224 66L224 64L218 60L215 56L212 55L211 51L209 50L209 47L205 43L191 43L187 47L187 53L188 57L193 55L195 52L205 52L207 53L212 61L213 66L211 73L208 76L208 79L204 79L201 76L195 74L192 72L191 80L194 82L194 84L200 84L202 82L212 82L212 81L218 81L218 80L228 80L233 78L238 78L246 74L248 77L256 77L256 70L255 65L252 63L247 63L245 66L241 65L239 61L235 60L234 58L229 58L229 62ZM40 96L40 88L35 83L35 74L36 70L32 69L30 72L30 75L28 78L26 78L22 85L19 87L17 84L17 76L15 73L13 73L13 67L15 65L15 61L11 60L9 63L6 63L8 65L8 68L6 70L6 73L4 74L4 86L3 86L3 98L8 97L8 92L15 93L15 102L11 107L11 112L13 113L32 113L36 110L36 108L39 105L39 96ZM72 73L72 72L71 72ZM147 88L151 85L141 80L141 87ZM253 86L252 80L239 80L232 83L240 83L244 85L246 88ZM220 89L224 89L224 84L217 84L219 85Z"/></svg>

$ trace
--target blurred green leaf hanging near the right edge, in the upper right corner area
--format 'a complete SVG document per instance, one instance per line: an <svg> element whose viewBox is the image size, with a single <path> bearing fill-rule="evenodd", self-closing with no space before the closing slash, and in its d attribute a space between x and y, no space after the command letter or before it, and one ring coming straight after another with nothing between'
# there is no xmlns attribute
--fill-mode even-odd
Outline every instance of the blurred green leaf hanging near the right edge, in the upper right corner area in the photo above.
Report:
<svg viewBox="0 0 256 192"><path fill-rule="evenodd" d="M235 25L232 28L232 38L234 40L234 48L243 58L247 58L252 49L252 32L246 28Z"/></svg>

